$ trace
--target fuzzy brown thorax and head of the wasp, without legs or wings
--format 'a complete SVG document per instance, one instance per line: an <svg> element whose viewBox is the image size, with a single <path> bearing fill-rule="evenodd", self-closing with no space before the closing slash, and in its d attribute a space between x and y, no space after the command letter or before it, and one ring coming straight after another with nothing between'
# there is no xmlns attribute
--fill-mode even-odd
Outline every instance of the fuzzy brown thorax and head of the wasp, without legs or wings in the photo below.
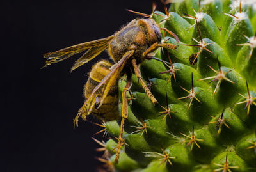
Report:
<svg viewBox="0 0 256 172"><path fill-rule="evenodd" d="M136 45L137 49L134 58L138 64L145 58L141 55L153 43L161 41L161 33L156 22L152 19L132 20L115 34L115 38L109 43L109 56L113 61L119 61L131 45Z"/></svg>

